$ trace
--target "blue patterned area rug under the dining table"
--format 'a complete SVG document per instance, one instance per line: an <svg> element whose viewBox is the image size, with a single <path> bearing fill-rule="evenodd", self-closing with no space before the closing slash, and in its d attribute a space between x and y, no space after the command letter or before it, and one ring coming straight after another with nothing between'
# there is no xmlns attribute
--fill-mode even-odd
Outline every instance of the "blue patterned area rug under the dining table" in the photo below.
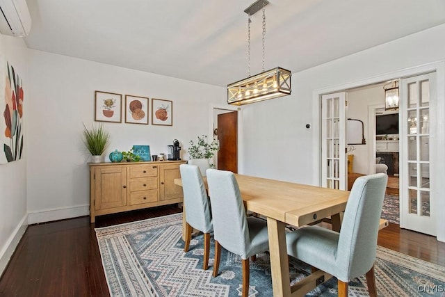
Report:
<svg viewBox="0 0 445 297"><path fill-rule="evenodd" d="M96 229L111 296L241 296L241 259L222 249L219 275L202 270L203 237L188 252L181 239L182 214ZM375 280L379 296L445 296L445 267L378 247ZM310 268L291 259L291 282ZM366 278L349 283L349 296L369 296ZM249 296L273 296L267 253L250 262ZM337 296L332 278L307 296Z"/></svg>

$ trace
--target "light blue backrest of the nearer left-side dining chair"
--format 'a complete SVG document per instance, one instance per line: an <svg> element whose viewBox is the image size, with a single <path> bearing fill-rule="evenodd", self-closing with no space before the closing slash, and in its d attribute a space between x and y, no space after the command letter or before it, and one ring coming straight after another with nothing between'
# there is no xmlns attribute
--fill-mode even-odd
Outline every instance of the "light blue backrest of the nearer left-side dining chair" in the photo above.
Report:
<svg viewBox="0 0 445 297"><path fill-rule="evenodd" d="M223 248L246 259L250 234L241 193L233 172L207 169L213 236Z"/></svg>

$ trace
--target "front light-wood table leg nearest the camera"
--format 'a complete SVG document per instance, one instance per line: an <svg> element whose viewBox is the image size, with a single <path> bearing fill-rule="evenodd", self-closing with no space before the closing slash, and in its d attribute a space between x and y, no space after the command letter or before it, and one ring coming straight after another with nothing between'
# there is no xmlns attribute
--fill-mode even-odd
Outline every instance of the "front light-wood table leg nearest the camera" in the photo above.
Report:
<svg viewBox="0 0 445 297"><path fill-rule="evenodd" d="M285 224L267 218L273 296L291 296Z"/></svg>

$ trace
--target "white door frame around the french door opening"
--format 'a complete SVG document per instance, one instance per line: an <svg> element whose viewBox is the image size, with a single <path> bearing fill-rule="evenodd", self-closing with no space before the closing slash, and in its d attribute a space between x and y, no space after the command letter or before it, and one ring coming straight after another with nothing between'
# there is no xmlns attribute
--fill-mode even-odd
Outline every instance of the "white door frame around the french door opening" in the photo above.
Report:
<svg viewBox="0 0 445 297"><path fill-rule="evenodd" d="M350 81L348 83L339 84L337 86L330 86L328 88L320 88L312 92L312 127L313 127L313 137L312 145L317 148L314 150L313 163L314 163L314 184L321 185L321 95L329 93L337 93L341 91L346 91L350 88L358 88L361 86L371 85L373 83L380 83L381 81L390 81L394 79L400 79L404 77L411 77L419 74L425 74L428 72L436 72L437 75L437 114L445 114L445 61L439 61L434 63L428 63L424 65L419 65L416 67L405 68L403 70L398 70L395 72L388 72L385 74L380 74L375 77L369 77L366 79L360 79L357 81ZM433 161L440 160L439 156L443 156L445 147L445 134L439 133L440 131L445 131L445 117L437 117L437 143L431 147L431 158ZM430 174L437 175L438 179L445 177L445 166L435 166L435 170L431 171ZM439 195L439 193L445 193L445 183L436 183L432 185L430 189L432 193L435 194L437 199L437 209L445 209L445 195ZM437 218L437 240L445 242L445 220L444 222L439 221L439 215Z"/></svg>

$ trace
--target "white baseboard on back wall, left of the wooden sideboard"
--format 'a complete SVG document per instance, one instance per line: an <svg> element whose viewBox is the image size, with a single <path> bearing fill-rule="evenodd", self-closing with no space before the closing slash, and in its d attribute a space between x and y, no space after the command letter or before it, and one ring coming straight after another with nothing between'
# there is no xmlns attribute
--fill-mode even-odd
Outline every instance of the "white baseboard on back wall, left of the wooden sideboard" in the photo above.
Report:
<svg viewBox="0 0 445 297"><path fill-rule="evenodd" d="M59 209L33 211L28 213L28 223L39 224L44 222L51 222L52 220L63 220L65 218L88 216L89 214L90 214L90 204L79 205L76 207L65 207Z"/></svg>

